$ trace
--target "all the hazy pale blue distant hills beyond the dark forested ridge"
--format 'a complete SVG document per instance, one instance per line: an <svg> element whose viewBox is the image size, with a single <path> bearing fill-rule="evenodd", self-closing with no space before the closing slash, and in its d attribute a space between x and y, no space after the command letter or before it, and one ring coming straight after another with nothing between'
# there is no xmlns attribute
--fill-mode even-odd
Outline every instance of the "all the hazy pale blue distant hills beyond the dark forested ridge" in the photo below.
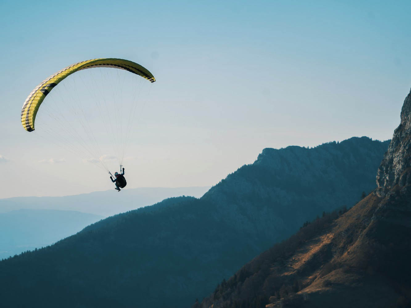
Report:
<svg viewBox="0 0 411 308"><path fill-rule="evenodd" d="M0 260L51 245L109 215L173 196L201 197L209 188L144 187L123 189L121 195L113 190L63 197L0 199Z"/></svg>

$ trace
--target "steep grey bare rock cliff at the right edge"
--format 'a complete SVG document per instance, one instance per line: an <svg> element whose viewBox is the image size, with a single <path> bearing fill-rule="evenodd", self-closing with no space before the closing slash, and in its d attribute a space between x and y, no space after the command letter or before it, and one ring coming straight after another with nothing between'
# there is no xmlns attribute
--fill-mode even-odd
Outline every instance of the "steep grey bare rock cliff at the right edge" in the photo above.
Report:
<svg viewBox="0 0 411 308"><path fill-rule="evenodd" d="M405 193L411 184L411 92L401 110L401 123L395 129L393 139L377 172L377 195L380 197L392 189Z"/></svg>

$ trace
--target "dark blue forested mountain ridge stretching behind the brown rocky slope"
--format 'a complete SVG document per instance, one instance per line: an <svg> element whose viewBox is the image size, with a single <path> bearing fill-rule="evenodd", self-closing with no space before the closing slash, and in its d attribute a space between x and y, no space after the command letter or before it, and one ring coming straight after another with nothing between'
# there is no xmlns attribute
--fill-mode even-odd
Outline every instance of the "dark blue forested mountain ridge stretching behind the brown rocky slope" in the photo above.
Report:
<svg viewBox="0 0 411 308"><path fill-rule="evenodd" d="M362 137L264 149L200 199L166 199L3 260L2 304L189 307L305 221L372 191L387 147Z"/></svg>

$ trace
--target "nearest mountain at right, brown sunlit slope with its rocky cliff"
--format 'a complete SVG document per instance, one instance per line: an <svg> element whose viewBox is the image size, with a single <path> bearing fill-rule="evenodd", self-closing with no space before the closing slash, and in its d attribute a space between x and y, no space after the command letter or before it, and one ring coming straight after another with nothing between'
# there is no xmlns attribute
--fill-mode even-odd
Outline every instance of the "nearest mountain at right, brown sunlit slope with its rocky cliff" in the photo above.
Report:
<svg viewBox="0 0 411 308"><path fill-rule="evenodd" d="M377 189L323 214L193 308L411 307L411 93Z"/></svg>

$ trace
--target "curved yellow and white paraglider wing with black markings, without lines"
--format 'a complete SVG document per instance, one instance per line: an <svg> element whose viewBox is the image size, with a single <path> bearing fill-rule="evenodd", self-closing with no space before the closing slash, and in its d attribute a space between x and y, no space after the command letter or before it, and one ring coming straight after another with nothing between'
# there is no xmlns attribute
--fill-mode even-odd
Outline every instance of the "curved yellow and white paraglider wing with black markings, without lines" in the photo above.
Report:
<svg viewBox="0 0 411 308"><path fill-rule="evenodd" d="M148 71L148 69L145 69L140 64L129 60L116 58L99 58L73 64L42 81L42 83L35 87L35 89L29 94L21 110L21 124L23 125L24 129L26 131L34 131L34 122L37 111L39 110L39 107L46 95L51 90L53 90L53 87L58 85L60 81L65 79L67 76L75 73L76 71L80 71L82 69L91 69L95 67L113 67L116 69L124 69L133 74L148 79L152 83L155 82L154 76L150 73L150 71Z"/></svg>

